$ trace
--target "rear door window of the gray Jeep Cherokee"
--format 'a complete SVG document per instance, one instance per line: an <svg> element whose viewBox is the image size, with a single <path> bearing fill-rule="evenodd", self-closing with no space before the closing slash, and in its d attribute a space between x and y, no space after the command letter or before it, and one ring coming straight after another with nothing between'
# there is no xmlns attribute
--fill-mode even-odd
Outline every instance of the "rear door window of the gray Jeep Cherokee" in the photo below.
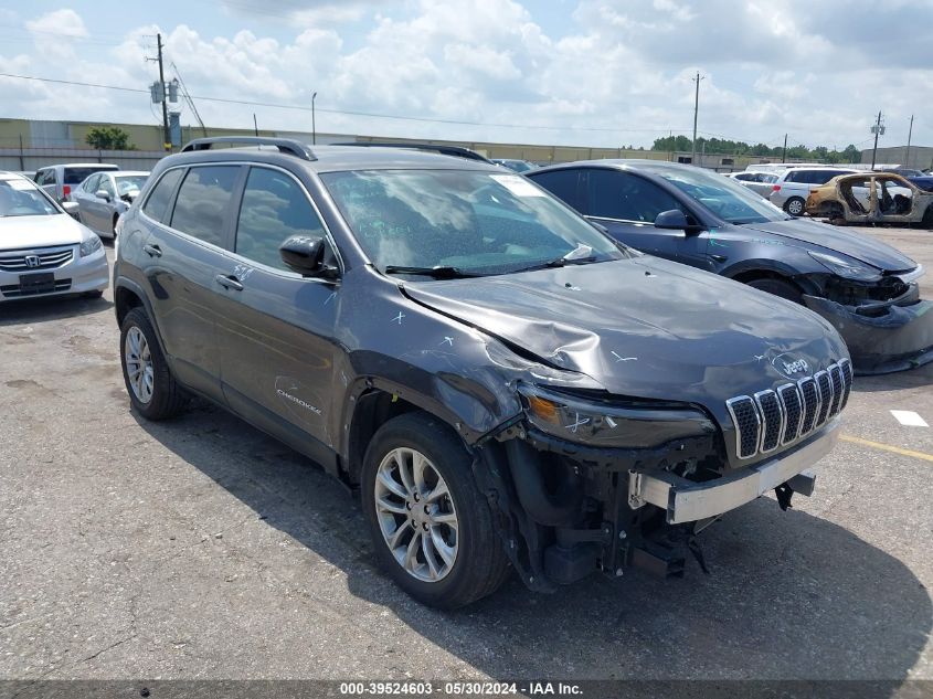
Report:
<svg viewBox="0 0 933 699"><path fill-rule="evenodd" d="M191 168L178 191L171 226L205 243L223 245L223 224L238 176L240 166Z"/></svg>

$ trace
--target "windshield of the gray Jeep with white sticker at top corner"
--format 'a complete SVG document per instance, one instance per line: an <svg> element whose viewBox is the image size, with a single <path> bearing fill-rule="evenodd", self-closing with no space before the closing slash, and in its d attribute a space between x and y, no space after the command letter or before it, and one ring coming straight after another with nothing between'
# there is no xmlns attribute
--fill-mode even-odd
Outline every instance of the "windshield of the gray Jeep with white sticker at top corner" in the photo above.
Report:
<svg viewBox="0 0 933 699"><path fill-rule="evenodd" d="M566 264L626 256L518 174L469 170L326 172L324 183L377 267L503 274L589 248Z"/></svg>

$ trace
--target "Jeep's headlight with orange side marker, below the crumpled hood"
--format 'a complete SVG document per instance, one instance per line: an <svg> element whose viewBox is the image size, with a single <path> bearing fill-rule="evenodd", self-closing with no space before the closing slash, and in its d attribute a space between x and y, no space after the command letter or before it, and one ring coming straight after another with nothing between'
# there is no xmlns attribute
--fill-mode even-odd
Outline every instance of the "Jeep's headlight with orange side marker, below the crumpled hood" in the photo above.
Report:
<svg viewBox="0 0 933 699"><path fill-rule="evenodd" d="M644 448L715 432L704 413L688 405L626 405L617 400L576 398L527 384L518 391L528 421L568 442Z"/></svg>

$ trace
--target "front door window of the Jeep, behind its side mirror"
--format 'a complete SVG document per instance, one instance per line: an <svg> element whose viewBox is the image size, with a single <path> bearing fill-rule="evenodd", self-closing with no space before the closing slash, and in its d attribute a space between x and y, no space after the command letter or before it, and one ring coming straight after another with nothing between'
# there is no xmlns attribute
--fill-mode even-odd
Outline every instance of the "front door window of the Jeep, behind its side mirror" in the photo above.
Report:
<svg viewBox="0 0 933 699"><path fill-rule="evenodd" d="M279 245L293 235L324 234L324 224L295 180L267 168L250 170L236 224L237 255L288 269L278 253Z"/></svg>

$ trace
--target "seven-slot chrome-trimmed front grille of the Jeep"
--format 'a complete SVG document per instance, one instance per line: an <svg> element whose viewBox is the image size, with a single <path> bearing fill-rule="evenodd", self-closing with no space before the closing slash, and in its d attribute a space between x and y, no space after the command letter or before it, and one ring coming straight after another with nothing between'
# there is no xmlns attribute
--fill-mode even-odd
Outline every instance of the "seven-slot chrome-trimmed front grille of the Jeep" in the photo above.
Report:
<svg viewBox="0 0 933 699"><path fill-rule="evenodd" d="M821 427L846 406L851 388L851 363L844 359L797 383L759 391L754 399L729 399L725 407L735 426L739 458L767 454Z"/></svg>

